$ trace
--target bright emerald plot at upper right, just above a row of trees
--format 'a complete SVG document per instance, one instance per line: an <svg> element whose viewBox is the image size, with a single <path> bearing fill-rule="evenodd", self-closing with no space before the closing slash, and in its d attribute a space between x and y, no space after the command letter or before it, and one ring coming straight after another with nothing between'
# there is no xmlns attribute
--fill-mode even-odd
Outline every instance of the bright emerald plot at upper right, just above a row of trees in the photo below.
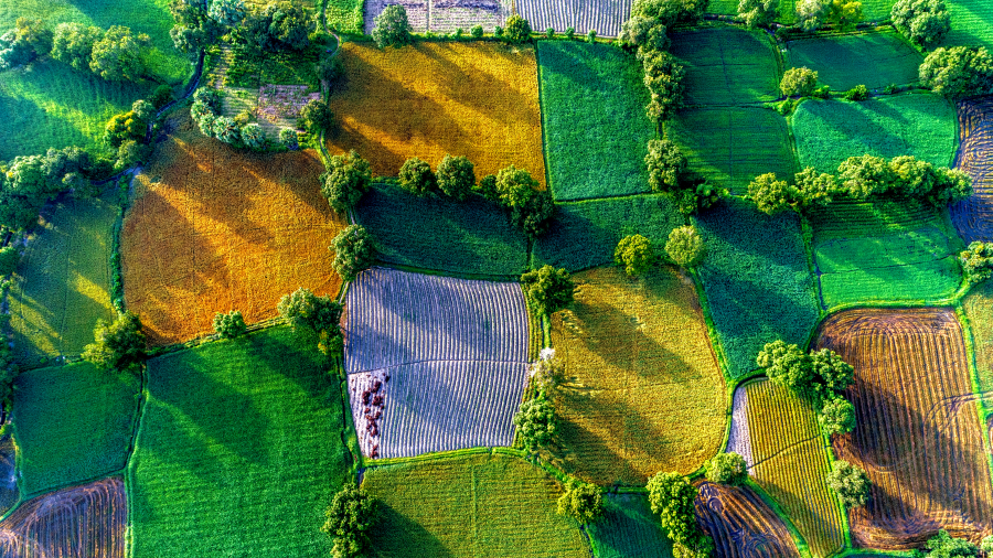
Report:
<svg viewBox="0 0 993 558"><path fill-rule="evenodd" d="M914 155L939 167L958 147L955 109L942 97L907 94L862 103L807 100L793 115L800 167L834 173L848 157Z"/></svg>

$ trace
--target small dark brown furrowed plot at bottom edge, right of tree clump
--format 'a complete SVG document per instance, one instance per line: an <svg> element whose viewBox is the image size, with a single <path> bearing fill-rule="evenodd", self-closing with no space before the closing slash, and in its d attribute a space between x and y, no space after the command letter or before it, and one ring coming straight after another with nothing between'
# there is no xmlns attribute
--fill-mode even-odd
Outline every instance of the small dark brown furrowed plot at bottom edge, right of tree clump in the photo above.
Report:
<svg viewBox="0 0 993 558"><path fill-rule="evenodd" d="M696 522L714 538L717 558L800 556L782 519L748 486L697 484Z"/></svg>

